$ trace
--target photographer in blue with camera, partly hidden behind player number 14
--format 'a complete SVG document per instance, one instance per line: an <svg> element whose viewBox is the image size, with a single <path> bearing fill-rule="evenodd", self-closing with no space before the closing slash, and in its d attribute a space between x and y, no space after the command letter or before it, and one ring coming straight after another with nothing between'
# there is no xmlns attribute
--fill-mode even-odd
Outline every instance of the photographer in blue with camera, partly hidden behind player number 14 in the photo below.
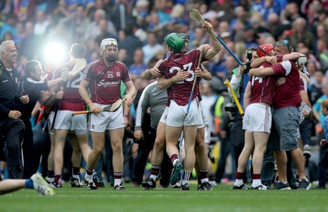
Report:
<svg viewBox="0 0 328 212"><path fill-rule="evenodd" d="M244 92L246 85L249 81L249 64L251 61L255 60L257 57L256 50L248 49L246 50L247 63L246 66L239 66L233 70L233 75L230 81L232 88L234 89L236 96L240 102L242 109L244 110ZM231 92L229 90L229 92ZM231 142L234 146L235 152L235 164L238 167L238 158L244 147L245 140L245 130L243 130L243 117L240 115L236 103L231 100L231 104L227 104L225 107L226 111L231 113L231 118L233 119L233 124L231 126Z"/></svg>

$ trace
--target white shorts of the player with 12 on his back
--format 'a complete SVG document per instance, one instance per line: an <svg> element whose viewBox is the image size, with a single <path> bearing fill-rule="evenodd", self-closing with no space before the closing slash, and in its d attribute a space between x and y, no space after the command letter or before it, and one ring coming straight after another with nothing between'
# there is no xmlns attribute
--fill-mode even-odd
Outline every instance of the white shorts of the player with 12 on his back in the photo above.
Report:
<svg viewBox="0 0 328 212"><path fill-rule="evenodd" d="M74 111L58 111L56 122L53 129L59 130L77 130L87 132L87 116L86 114L76 115L72 117ZM81 133L80 132L80 133ZM82 134L84 134L82 133Z"/></svg>

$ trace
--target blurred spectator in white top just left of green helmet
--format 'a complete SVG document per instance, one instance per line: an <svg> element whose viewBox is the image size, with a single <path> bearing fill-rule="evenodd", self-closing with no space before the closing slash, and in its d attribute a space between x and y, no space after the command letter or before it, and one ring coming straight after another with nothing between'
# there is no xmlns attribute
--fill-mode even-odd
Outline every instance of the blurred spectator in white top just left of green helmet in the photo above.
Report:
<svg viewBox="0 0 328 212"><path fill-rule="evenodd" d="M163 46L157 42L157 35L154 32L148 32L148 44L142 47L143 63L148 64L150 59L155 56L157 50L163 49Z"/></svg>

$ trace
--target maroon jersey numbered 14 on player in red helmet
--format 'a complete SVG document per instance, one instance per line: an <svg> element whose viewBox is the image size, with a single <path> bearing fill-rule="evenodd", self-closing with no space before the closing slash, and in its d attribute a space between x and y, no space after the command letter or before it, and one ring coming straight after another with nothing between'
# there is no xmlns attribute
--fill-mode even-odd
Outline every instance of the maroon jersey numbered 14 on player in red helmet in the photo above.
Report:
<svg viewBox="0 0 328 212"><path fill-rule="evenodd" d="M270 67L271 64L263 63L260 68ZM252 103L268 103L272 104L272 99L276 90L276 77L266 76L266 77L256 77L253 76L249 79L251 83L251 100Z"/></svg>

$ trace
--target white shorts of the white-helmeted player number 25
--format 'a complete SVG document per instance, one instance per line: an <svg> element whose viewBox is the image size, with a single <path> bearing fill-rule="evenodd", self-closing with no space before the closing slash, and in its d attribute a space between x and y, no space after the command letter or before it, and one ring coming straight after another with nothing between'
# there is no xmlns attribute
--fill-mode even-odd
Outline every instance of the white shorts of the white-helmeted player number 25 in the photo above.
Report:
<svg viewBox="0 0 328 212"><path fill-rule="evenodd" d="M94 103L98 108L105 108L111 104ZM90 114L88 130L92 132L105 132L106 130L115 130L124 128L123 107L116 112L101 112L98 114Z"/></svg>

